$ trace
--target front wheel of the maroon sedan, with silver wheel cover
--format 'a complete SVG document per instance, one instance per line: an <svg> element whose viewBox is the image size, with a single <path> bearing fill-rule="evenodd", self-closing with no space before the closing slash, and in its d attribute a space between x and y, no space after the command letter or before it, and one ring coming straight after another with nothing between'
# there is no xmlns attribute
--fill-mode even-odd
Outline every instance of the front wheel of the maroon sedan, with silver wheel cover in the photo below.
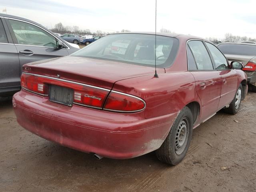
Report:
<svg viewBox="0 0 256 192"><path fill-rule="evenodd" d="M228 114L237 114L237 112L240 109L241 100L242 100L242 94L243 94L243 87L242 84L238 86L238 89L236 91L236 95L232 102L229 104L228 108L224 108L224 112Z"/></svg>

